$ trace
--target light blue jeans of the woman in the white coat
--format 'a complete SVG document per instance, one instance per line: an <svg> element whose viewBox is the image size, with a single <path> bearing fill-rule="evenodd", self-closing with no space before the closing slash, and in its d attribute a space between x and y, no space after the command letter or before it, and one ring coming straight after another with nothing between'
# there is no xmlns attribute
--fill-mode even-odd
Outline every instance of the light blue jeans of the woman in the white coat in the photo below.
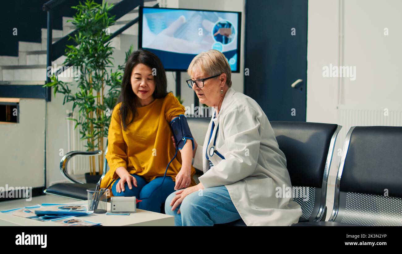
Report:
<svg viewBox="0 0 402 254"><path fill-rule="evenodd" d="M187 195L172 211L170 202L177 191L165 202L165 213L174 216L176 226L213 226L241 219L225 186L205 188ZM180 208L180 213L177 214Z"/></svg>

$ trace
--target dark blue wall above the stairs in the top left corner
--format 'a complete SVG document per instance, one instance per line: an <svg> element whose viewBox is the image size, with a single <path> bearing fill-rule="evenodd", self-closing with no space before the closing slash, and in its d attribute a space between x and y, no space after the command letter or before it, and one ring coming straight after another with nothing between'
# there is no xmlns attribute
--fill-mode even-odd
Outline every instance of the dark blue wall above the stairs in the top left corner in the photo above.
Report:
<svg viewBox="0 0 402 254"><path fill-rule="evenodd" d="M18 56L18 41L41 42L41 28L46 28L47 12L42 6L48 0L3 0L0 8L0 55ZM85 2L84 0L81 2ZM102 0L95 2L101 3ZM67 0L53 11L53 29L62 30L62 17L72 17L71 6L79 0ZM17 35L13 34L14 27Z"/></svg>

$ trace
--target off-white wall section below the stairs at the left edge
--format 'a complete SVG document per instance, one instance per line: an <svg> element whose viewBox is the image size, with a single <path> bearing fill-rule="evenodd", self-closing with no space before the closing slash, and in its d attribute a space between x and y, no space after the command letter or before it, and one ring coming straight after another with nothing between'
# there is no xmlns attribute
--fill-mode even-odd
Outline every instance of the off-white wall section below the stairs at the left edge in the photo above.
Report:
<svg viewBox="0 0 402 254"><path fill-rule="evenodd" d="M45 181L45 100L21 99L19 123L0 123L0 186L41 187Z"/></svg>

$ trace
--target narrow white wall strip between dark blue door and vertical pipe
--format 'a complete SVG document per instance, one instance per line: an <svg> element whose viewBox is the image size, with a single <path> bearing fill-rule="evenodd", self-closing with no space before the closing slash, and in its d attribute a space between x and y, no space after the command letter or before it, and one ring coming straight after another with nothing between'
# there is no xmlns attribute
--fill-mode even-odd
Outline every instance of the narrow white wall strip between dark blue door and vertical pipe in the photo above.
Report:
<svg viewBox="0 0 402 254"><path fill-rule="evenodd" d="M308 122L336 123L336 78L323 78L322 67L338 65L338 1L310 0L307 29Z"/></svg>

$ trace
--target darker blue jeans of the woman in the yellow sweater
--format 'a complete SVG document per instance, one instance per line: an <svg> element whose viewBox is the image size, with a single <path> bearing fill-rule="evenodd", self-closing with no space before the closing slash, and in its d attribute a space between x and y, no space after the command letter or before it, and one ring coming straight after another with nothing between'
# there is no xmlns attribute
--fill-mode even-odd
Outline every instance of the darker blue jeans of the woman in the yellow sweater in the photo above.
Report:
<svg viewBox="0 0 402 254"><path fill-rule="evenodd" d="M132 189L130 190L126 182L124 184L124 191L118 193L116 190L116 185L120 180L120 178L118 178L115 181L115 183L113 183L112 186L113 196L116 197L135 196L137 199L144 199L149 197L148 199L144 199L142 202L137 203L137 208L160 213L162 204L165 202L166 197L168 197L168 195L172 193L172 191L174 191L174 185L176 183L173 182L170 176L165 176L165 181L163 182L162 186L157 188L162 183L163 176L159 176L147 183L147 181L142 176L138 176L136 174L131 175L134 176L135 179L137 179L137 187L135 187L131 182ZM154 193L152 193L153 191Z"/></svg>

